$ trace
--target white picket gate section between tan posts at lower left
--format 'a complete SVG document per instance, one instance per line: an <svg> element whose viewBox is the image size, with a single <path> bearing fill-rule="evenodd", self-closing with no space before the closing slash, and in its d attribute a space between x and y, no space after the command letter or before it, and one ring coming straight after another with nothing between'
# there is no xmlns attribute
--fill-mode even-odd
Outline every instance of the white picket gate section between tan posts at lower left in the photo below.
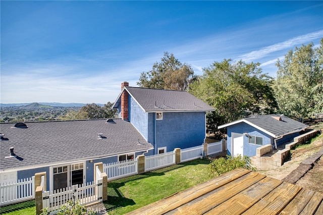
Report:
<svg viewBox="0 0 323 215"><path fill-rule="evenodd" d="M73 202L78 200L81 205L100 202L103 194L102 187L102 179L99 179L96 183L86 183L83 186L73 185L66 189L44 191L42 193L42 206L48 208L49 214L55 214L61 206L70 200Z"/></svg>

